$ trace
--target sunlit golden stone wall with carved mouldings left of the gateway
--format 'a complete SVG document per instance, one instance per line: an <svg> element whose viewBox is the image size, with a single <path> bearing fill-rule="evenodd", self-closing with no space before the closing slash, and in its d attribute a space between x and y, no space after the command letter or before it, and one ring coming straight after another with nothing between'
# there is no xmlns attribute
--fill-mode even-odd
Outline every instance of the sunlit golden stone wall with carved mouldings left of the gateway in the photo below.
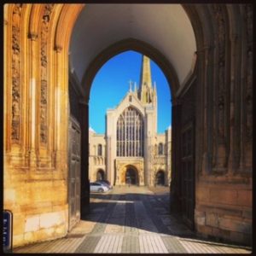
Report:
<svg viewBox="0 0 256 256"><path fill-rule="evenodd" d="M4 6L3 209L14 247L67 234L67 48L53 39L62 7Z"/></svg>

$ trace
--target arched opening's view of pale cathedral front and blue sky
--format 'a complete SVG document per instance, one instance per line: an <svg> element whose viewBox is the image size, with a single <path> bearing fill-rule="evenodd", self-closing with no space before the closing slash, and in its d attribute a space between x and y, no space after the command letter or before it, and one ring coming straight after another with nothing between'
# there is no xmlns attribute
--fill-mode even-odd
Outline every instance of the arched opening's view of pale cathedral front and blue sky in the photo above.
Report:
<svg viewBox="0 0 256 256"><path fill-rule="evenodd" d="M145 56L150 79L148 91L143 97L142 70ZM106 170L105 178L115 185L121 183L118 166L127 165L126 160L138 160L139 165L143 167L142 177L139 177L137 182L153 186L154 177L149 174L149 165L153 165L151 169L155 170L159 168L163 158L169 158L169 162L172 162L170 80L166 79L166 73L163 73L148 55L133 49L114 55L99 67L94 75L89 97L89 172L95 173L99 168L103 168ZM149 102L143 102L147 99ZM148 113L148 107L151 113ZM111 113L113 118L109 118L108 113ZM147 121L148 114L152 115L151 119L154 121ZM154 133L150 137L150 143L146 143L146 124ZM98 143L102 144L103 166L95 166L96 161L93 160L96 158ZM155 151L154 143L160 143L166 150L162 149L160 153ZM148 152L147 156L143 152ZM164 168L169 173L168 179L171 179L171 165ZM89 176L94 177L95 174L89 173ZM125 184L125 180L122 184Z"/></svg>

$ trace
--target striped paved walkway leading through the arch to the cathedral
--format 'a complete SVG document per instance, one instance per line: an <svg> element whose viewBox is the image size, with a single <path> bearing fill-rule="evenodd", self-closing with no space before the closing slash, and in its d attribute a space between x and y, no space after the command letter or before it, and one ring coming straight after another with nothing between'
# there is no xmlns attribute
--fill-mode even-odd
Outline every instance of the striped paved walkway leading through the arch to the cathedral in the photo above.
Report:
<svg viewBox="0 0 256 256"><path fill-rule="evenodd" d="M92 194L90 214L55 241L14 253L251 253L247 247L202 241L168 212L168 188L115 187Z"/></svg>

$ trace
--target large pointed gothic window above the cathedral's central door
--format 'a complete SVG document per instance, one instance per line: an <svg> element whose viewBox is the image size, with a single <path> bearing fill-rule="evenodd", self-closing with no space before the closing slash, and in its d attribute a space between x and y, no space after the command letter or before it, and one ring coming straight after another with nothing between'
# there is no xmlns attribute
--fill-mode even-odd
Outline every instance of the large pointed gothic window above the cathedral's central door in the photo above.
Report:
<svg viewBox="0 0 256 256"><path fill-rule="evenodd" d="M117 122L117 156L143 156L143 134L143 117L135 108L126 108Z"/></svg>

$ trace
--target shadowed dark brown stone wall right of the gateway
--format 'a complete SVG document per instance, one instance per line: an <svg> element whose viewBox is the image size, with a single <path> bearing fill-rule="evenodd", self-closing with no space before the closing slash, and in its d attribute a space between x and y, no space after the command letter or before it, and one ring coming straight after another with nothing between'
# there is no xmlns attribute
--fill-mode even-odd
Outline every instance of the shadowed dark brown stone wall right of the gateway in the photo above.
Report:
<svg viewBox="0 0 256 256"><path fill-rule="evenodd" d="M252 108L247 108L252 102L252 6L213 4L208 10L216 21L206 21L215 25L216 34L198 55L208 76L199 82L206 97L202 144L197 145L204 156L199 156L196 170L195 229L201 236L248 245L252 243Z"/></svg>

